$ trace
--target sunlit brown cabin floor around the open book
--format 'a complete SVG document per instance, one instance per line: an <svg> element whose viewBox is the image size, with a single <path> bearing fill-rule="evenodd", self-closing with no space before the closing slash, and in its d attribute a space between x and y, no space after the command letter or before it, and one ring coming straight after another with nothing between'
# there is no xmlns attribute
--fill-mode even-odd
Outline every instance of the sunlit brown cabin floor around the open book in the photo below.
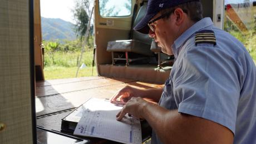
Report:
<svg viewBox="0 0 256 144"><path fill-rule="evenodd" d="M110 99L122 87L130 85L142 88L158 88L163 85L138 80L109 77L81 77L36 82L37 126L61 132L61 119L91 97ZM67 135L72 133L61 132ZM143 132L142 132L143 134ZM38 137L39 136L39 137ZM37 137L42 135L37 128ZM113 143L100 138L80 137L90 143Z"/></svg>

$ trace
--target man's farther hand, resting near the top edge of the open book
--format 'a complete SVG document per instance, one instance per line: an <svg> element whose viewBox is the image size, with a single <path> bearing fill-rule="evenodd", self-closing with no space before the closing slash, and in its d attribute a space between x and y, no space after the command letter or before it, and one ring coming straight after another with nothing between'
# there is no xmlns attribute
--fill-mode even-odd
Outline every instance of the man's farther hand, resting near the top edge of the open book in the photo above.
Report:
<svg viewBox="0 0 256 144"><path fill-rule="evenodd" d="M131 97L135 97L136 88L125 86L121 90L117 91L117 93L111 98L111 103L125 104L127 101L131 99Z"/></svg>

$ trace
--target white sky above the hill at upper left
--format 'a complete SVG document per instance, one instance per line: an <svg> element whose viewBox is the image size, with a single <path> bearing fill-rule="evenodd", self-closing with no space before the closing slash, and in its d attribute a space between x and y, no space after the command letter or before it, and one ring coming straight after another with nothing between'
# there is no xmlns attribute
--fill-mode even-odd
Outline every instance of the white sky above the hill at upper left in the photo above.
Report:
<svg viewBox="0 0 256 144"><path fill-rule="evenodd" d="M41 17L61 18L75 23L71 9L75 7L75 0L41 0Z"/></svg>

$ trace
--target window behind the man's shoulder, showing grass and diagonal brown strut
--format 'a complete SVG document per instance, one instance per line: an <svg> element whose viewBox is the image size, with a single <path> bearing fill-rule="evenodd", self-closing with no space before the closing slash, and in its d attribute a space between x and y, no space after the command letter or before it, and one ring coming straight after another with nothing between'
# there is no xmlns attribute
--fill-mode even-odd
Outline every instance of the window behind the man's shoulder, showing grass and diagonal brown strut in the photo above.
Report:
<svg viewBox="0 0 256 144"><path fill-rule="evenodd" d="M256 62L256 1L225 0L224 30L238 38Z"/></svg>

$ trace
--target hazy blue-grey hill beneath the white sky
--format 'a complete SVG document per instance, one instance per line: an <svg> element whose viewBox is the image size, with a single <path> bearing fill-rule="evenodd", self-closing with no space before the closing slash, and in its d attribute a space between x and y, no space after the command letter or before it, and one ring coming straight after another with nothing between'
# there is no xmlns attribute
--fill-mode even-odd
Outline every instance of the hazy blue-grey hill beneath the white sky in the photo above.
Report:
<svg viewBox="0 0 256 144"><path fill-rule="evenodd" d="M43 40L56 40L62 42L64 39L76 39L75 25L60 18L41 17Z"/></svg>

